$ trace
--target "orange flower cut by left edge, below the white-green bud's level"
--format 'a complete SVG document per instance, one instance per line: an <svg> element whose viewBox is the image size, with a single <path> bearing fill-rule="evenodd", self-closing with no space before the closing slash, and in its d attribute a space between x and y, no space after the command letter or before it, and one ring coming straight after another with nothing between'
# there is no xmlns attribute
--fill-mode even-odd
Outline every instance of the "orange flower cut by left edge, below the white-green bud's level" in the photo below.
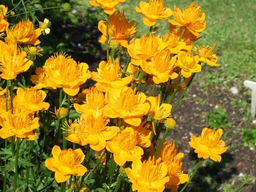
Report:
<svg viewBox="0 0 256 192"><path fill-rule="evenodd" d="M26 72L33 64L28 60L26 52L17 48L16 43L3 43L0 41L0 77L3 79L14 79L19 73Z"/></svg>

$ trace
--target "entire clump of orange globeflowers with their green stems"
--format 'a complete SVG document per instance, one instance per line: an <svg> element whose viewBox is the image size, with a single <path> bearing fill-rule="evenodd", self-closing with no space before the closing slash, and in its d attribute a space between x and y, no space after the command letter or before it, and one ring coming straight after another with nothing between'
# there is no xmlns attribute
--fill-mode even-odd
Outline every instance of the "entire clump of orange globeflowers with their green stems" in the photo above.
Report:
<svg viewBox="0 0 256 192"><path fill-rule="evenodd" d="M33 72L34 61L42 56L40 35L50 33L51 23L45 19L36 28L27 19L9 28L7 7L0 5L0 32L5 31L4 40L0 40L0 77L7 82L6 88L0 87L0 137L11 138L13 154L16 152L19 158L20 139L36 140L43 132L38 156L43 155L45 167L55 172L56 182L62 183L61 192L68 179L68 190L93 191L97 181L107 178L106 191L115 187L115 192L121 191L121 184L127 185L124 182L128 180L132 191L138 192L162 192L165 188L178 192L181 184L190 181L182 169L184 153L178 152L175 141L165 140L176 129L172 113L195 74L201 72L202 62L219 66L213 53L216 43L193 48L206 28L201 6L193 2L182 11L176 6L172 11L164 7L164 0L141 1L135 7L149 26L148 34L135 38L135 21L129 22L124 11L116 10L124 1L89 0L107 13L106 20L98 24L102 33L99 42L107 49L107 58L96 71L89 71L87 63L77 62L66 53L54 53ZM69 4L62 7L70 9ZM169 24L169 32L163 36L155 33L158 20ZM88 79L94 81L93 86L85 84ZM182 94L175 100L179 91ZM50 111L54 115L49 115ZM72 118L71 113L77 117ZM51 134L47 135L48 130ZM189 145L198 158L220 162L221 154L228 149L221 136L222 129L215 132L204 128L202 136L191 136ZM46 138L53 147L44 151ZM71 144L73 149L67 147ZM92 166L93 156L97 159ZM18 159L16 162L15 187ZM99 180L91 186L84 179L95 169L100 179L95 177ZM26 174L28 185L29 167Z"/></svg>

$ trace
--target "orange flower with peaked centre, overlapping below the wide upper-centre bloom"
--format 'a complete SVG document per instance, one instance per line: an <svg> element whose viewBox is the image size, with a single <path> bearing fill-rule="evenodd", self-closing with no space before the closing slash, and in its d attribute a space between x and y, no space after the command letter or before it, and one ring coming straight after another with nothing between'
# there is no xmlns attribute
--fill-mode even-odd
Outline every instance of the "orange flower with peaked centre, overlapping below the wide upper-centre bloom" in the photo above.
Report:
<svg viewBox="0 0 256 192"><path fill-rule="evenodd" d="M141 68L148 74L153 75L153 81L156 84L167 82L170 79L175 79L178 74L173 71L175 68L177 56L170 59L168 49L162 50L155 54L150 61L143 60Z"/></svg>

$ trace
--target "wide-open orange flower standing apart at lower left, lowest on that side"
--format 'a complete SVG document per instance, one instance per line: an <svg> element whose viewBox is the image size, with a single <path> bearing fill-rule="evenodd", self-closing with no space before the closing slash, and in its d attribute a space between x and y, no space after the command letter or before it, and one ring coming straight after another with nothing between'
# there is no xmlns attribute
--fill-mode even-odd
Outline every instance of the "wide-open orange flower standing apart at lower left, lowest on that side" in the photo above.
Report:
<svg viewBox="0 0 256 192"><path fill-rule="evenodd" d="M87 168L82 166L85 155L81 149L64 149L61 151L59 146L52 149L53 158L45 161L45 166L55 172L55 179L58 183L67 181L71 175L83 176Z"/></svg>

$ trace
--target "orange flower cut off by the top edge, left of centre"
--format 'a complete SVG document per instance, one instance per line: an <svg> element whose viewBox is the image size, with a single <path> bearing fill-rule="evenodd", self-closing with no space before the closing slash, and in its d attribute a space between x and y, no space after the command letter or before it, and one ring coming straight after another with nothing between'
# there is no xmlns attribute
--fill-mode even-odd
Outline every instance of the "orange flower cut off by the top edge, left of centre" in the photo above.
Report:
<svg viewBox="0 0 256 192"><path fill-rule="evenodd" d="M111 15L115 12L115 6L123 3L125 0L89 0L93 6L102 7L104 12Z"/></svg>

